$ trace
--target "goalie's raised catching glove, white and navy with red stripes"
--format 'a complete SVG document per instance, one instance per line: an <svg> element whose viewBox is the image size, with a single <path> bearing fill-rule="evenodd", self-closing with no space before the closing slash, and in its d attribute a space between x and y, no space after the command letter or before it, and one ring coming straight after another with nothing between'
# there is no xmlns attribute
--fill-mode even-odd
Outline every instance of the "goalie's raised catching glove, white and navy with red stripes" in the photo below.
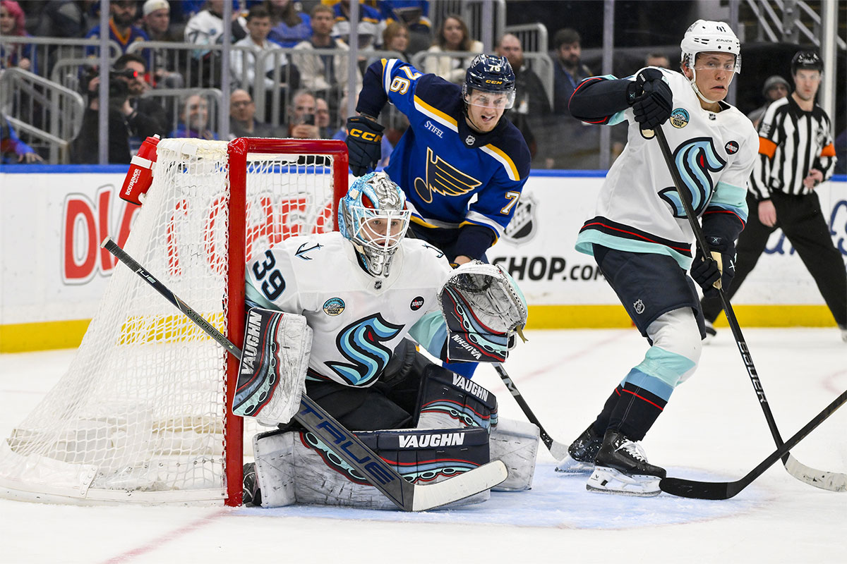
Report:
<svg viewBox="0 0 847 564"><path fill-rule="evenodd" d="M447 360L503 362L523 338L527 304L500 266L473 260L451 272L439 292L447 323Z"/></svg>

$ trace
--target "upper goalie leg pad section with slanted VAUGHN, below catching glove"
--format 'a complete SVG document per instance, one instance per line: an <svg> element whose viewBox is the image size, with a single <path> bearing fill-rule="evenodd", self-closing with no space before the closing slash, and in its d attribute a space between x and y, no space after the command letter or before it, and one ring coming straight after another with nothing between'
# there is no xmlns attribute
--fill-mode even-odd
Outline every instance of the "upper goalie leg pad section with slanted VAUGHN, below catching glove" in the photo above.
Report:
<svg viewBox="0 0 847 564"><path fill-rule="evenodd" d="M474 381L436 364L424 369L418 392L418 429L497 425L497 398Z"/></svg>

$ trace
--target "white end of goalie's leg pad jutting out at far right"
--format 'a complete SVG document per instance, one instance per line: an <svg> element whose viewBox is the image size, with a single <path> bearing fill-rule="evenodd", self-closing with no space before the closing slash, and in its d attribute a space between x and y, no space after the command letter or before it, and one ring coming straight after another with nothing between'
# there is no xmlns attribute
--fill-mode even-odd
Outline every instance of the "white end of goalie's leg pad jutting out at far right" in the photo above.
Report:
<svg viewBox="0 0 847 564"><path fill-rule="evenodd" d="M501 460L506 464L509 475L493 490L522 491L532 487L539 435L539 429L534 424L500 419L496 429L491 431L491 460Z"/></svg>

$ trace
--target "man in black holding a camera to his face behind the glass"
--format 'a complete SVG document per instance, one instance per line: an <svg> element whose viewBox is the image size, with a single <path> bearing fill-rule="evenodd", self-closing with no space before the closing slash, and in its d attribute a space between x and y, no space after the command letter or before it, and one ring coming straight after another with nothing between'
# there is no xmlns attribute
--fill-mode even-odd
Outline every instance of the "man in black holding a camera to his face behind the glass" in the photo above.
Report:
<svg viewBox="0 0 847 564"><path fill-rule="evenodd" d="M126 121L130 128L130 136L136 137L138 145L141 141L158 134L164 137L170 130L168 112L152 98L142 97L150 85L144 81L147 74L147 62L144 57L135 53L121 55L114 62L112 76L114 79L125 82L128 93L130 113L126 113ZM91 80L99 84L99 79ZM91 84L89 91L91 92ZM93 96L97 96L97 90L93 90Z"/></svg>

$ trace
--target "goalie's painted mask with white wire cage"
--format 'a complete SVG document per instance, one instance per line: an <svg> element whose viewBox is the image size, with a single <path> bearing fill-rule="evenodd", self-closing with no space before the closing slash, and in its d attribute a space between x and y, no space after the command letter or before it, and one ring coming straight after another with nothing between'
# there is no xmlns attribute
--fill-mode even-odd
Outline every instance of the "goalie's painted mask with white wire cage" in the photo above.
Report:
<svg viewBox="0 0 847 564"><path fill-rule="evenodd" d="M350 239L365 270L387 278L391 257L409 227L406 194L385 172L368 172L347 190L338 206L338 227Z"/></svg>

